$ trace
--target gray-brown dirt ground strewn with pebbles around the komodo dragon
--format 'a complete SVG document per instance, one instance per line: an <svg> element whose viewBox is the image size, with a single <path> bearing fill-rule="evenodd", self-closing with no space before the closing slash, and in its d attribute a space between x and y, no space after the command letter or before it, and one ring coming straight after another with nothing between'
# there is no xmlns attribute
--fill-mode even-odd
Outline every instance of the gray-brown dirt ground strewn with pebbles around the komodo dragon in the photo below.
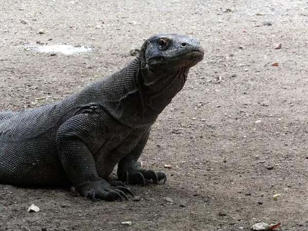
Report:
<svg viewBox="0 0 308 231"><path fill-rule="evenodd" d="M141 157L166 172L165 185L129 186L141 200L125 202L0 185L0 230L251 230L258 221L308 230L307 1L14 0L0 9L0 111L65 98L123 67L155 33L192 34L205 50ZM25 50L35 42L95 49ZM38 213L27 212L33 203Z"/></svg>

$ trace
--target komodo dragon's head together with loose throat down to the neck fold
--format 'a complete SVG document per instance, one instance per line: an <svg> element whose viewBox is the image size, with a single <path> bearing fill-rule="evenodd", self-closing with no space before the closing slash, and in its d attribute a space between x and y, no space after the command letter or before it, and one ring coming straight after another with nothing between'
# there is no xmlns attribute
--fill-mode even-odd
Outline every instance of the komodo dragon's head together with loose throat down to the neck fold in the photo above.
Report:
<svg viewBox="0 0 308 231"><path fill-rule="evenodd" d="M138 85L146 107L160 113L184 87L189 68L203 55L200 42L187 35L149 37L137 57L142 73Z"/></svg>

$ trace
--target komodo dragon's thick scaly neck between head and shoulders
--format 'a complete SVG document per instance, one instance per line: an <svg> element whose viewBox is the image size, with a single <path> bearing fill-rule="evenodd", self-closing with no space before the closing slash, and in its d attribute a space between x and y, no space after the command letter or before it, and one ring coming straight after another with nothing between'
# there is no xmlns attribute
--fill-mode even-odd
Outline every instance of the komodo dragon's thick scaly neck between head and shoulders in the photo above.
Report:
<svg viewBox="0 0 308 231"><path fill-rule="evenodd" d="M100 105L119 122L133 128L150 126L183 88L189 68L157 73L146 83L147 72L140 56L126 67L75 95L78 107Z"/></svg>

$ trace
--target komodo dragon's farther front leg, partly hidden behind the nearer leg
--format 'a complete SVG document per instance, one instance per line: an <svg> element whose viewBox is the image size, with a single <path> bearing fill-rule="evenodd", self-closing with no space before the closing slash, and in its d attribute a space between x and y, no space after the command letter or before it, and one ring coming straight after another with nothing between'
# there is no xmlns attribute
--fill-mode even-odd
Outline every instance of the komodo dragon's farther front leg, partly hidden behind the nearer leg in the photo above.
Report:
<svg viewBox="0 0 308 231"><path fill-rule="evenodd" d="M152 180L154 184L164 179L166 183L167 177L164 172L144 169L138 159L147 143L150 128L143 134L139 144L132 149L118 164L118 178L126 184L142 184L145 185L147 180Z"/></svg>

